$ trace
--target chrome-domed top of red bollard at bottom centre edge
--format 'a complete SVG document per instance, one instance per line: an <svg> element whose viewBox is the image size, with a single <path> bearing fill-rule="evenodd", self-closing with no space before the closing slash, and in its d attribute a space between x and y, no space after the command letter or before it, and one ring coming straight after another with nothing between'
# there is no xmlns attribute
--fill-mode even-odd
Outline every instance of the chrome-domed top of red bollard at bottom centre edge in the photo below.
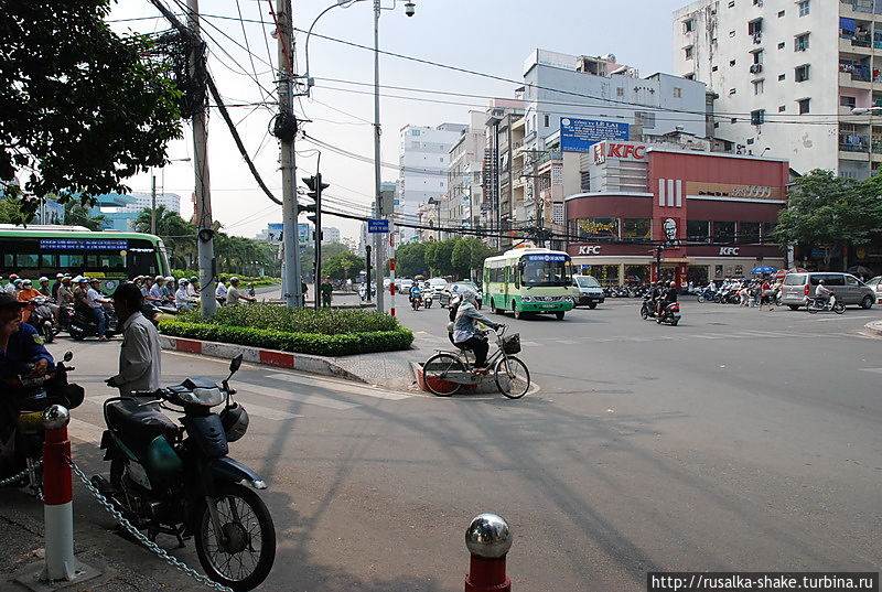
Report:
<svg viewBox="0 0 882 592"><path fill-rule="evenodd" d="M465 546L472 556L465 592L510 592L512 580L505 574L505 557L513 535L495 514L475 516L465 531Z"/></svg>

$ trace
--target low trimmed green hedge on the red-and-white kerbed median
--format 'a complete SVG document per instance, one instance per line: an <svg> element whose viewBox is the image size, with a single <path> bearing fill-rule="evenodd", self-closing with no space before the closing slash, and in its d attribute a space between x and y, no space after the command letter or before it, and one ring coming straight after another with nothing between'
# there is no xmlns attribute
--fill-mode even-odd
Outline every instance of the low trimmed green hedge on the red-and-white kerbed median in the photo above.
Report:
<svg viewBox="0 0 882 592"><path fill-rule="evenodd" d="M187 323L183 321L162 321L160 331L175 337L190 337L220 343L235 343L252 347L266 347L314 354L320 356L348 356L375 352L408 349L413 342L413 333L402 326L394 331L369 331L363 333L292 333L268 329L228 326L212 323Z"/></svg>

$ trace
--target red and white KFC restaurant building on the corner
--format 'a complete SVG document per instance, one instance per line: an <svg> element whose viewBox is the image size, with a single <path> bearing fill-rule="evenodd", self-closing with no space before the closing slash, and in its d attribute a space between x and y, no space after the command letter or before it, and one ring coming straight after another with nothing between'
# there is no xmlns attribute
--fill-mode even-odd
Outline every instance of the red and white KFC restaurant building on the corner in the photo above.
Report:
<svg viewBox="0 0 882 592"><path fill-rule="evenodd" d="M785 267L770 234L786 205L787 161L620 140L583 159L590 191L566 198L568 252L582 273L704 284Z"/></svg>

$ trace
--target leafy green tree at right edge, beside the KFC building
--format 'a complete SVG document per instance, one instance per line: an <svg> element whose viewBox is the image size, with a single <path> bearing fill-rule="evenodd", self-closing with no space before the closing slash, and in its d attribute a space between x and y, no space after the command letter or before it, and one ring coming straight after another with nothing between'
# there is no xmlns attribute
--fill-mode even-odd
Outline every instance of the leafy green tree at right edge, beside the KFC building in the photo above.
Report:
<svg viewBox="0 0 882 592"><path fill-rule="evenodd" d="M879 175L856 183L831 171L811 171L794 182L774 239L803 250L826 248L824 263L829 269L833 252L869 243L873 229L882 226L880 195Z"/></svg>

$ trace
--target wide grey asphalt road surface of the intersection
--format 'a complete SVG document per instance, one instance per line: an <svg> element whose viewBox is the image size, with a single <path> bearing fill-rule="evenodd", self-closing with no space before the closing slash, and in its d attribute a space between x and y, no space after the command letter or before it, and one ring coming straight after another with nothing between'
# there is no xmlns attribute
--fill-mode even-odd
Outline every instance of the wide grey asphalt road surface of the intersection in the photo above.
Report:
<svg viewBox="0 0 882 592"><path fill-rule="evenodd" d="M541 387L516 401L244 366L233 383L251 427L233 455L269 483L279 539L261 590L462 590L464 529L482 512L512 525L520 591L645 590L657 570L878 570L882 342L860 330L882 314L687 302L670 327L637 311L622 299L504 317ZM445 310L399 314L421 348L445 347ZM72 347L88 388L74 454L93 472L118 346ZM225 375L186 354L163 365L168 383ZM192 547L175 552L195 563Z"/></svg>

